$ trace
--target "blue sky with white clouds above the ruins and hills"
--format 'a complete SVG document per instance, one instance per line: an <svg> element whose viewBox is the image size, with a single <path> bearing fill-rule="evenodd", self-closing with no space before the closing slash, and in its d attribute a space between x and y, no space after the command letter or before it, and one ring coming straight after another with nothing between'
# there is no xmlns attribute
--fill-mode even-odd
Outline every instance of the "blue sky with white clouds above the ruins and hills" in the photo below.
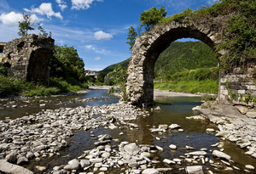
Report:
<svg viewBox="0 0 256 174"><path fill-rule="evenodd" d="M162 5L167 15L210 6L216 0L0 0L0 42L17 35L22 13L51 31L55 44L73 46L86 70L102 70L131 56L128 28L143 11ZM37 27L36 27L37 28ZM32 31L38 34L38 31Z"/></svg>

